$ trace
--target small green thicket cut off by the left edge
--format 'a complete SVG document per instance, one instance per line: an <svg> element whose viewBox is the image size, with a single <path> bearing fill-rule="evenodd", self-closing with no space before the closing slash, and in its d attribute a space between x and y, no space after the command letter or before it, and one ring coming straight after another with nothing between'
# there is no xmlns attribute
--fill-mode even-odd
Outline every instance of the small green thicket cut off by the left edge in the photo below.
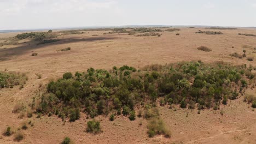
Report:
<svg viewBox="0 0 256 144"><path fill-rule="evenodd" d="M25 85L27 76L24 73L0 71L0 89L12 88L18 85Z"/></svg>

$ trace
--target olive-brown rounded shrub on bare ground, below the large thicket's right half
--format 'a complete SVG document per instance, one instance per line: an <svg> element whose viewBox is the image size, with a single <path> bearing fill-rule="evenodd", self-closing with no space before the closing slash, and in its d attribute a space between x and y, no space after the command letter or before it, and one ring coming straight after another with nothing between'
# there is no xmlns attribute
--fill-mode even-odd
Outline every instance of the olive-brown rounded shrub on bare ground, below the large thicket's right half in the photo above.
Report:
<svg viewBox="0 0 256 144"><path fill-rule="evenodd" d="M171 137L171 133L166 128L162 119L154 118L150 120L147 128L149 137L154 137L155 135L164 135L165 137Z"/></svg>

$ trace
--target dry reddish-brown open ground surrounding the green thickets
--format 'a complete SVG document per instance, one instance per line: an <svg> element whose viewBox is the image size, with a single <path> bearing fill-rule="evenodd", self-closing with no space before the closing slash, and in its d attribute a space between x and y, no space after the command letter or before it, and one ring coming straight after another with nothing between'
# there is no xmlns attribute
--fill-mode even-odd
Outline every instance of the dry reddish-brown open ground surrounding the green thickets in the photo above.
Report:
<svg viewBox="0 0 256 144"><path fill-rule="evenodd" d="M155 63L198 60L256 66L255 60L249 62L245 58L229 56L233 52L242 54L242 50L246 49L247 56L255 59L256 53L252 53L256 51L253 49L256 47L255 37L238 33L256 34L256 29L220 30L223 35L195 34L198 30L181 28L179 32L161 32L161 37L103 35L105 31L92 31L62 35L60 41L51 44L0 46L0 71L20 71L28 76L24 88L0 90L0 131L4 131L8 125L17 129L28 119L34 123L33 127L24 131L25 139L21 142L15 142L14 136L0 136L0 143L60 143L65 136L71 137L75 143L256 143L256 112L243 102L243 96L222 106L223 116L220 110L202 110L197 114L197 110L184 110L178 106L175 110L159 106L161 117L172 132L169 139L162 136L149 138L147 121L138 117L135 121L129 121L127 117L118 116L110 122L109 117L98 116L96 119L101 121L103 133L92 135L85 133L86 122L89 121L85 115L79 121L63 125L56 116L19 119L19 114L11 112L16 103L30 103L32 97L42 89L39 88L40 84L45 87L50 80L61 77L67 71L85 71L90 67L111 69L114 65L140 68ZM0 38L16 34L1 33ZM92 36L94 34L98 36ZM199 46L207 46L212 51L199 51ZM60 51L66 47L71 47L71 51ZM33 52L38 53L38 56L32 57ZM42 79L37 79L37 74L42 75ZM255 94L256 89L249 89L248 93Z"/></svg>

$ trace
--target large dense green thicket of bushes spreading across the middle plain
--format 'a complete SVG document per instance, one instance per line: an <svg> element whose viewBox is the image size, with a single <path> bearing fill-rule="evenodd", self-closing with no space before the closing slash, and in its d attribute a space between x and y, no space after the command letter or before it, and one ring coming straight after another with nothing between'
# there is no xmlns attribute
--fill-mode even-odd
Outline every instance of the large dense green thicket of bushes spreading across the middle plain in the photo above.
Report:
<svg viewBox="0 0 256 144"><path fill-rule="evenodd" d="M158 98L161 105L210 109L224 96L236 99L238 92L248 86L247 79L254 78L250 70L245 65L233 67L201 61L149 65L138 71L127 65L109 71L90 68L74 75L66 73L63 79L50 82L37 112L57 111L60 117L75 121L79 112L94 118L115 111L132 120L136 105L154 104ZM150 111L144 112L144 117L150 117Z"/></svg>

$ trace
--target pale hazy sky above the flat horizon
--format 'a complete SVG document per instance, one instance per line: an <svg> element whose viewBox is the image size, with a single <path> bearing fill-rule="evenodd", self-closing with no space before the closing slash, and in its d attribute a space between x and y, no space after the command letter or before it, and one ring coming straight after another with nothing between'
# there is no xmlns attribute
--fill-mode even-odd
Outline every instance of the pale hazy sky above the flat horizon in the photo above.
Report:
<svg viewBox="0 0 256 144"><path fill-rule="evenodd" d="M256 0L0 0L0 29L256 26Z"/></svg>

